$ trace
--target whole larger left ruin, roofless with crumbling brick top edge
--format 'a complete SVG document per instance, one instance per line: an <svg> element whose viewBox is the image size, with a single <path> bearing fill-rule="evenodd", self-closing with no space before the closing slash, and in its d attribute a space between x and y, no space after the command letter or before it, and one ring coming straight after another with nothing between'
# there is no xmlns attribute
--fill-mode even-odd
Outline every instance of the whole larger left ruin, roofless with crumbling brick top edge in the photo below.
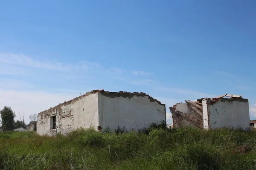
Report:
<svg viewBox="0 0 256 170"><path fill-rule="evenodd" d="M94 90L38 113L37 133L54 135L93 125L96 130L118 125L139 130L166 121L165 104L145 93Z"/></svg>

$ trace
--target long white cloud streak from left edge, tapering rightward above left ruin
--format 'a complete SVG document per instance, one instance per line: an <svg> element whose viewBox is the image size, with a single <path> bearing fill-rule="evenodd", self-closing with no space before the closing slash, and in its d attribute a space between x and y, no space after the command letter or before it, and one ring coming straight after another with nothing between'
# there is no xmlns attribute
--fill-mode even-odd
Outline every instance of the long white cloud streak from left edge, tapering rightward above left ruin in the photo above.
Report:
<svg viewBox="0 0 256 170"><path fill-rule="evenodd" d="M12 54L12 53L2 53L0 54L0 65L5 66L7 69L0 68L0 74L20 74L20 70L25 68L42 68L52 71L85 71L90 73L103 73L103 74L128 74L148 76L153 73L143 72L143 71L125 71L121 68L111 67L107 68L101 63L89 62L89 61L78 61L75 63L64 63L53 60L46 59L33 59L24 54ZM23 66L17 70L17 66ZM15 68L13 71L9 67Z"/></svg>

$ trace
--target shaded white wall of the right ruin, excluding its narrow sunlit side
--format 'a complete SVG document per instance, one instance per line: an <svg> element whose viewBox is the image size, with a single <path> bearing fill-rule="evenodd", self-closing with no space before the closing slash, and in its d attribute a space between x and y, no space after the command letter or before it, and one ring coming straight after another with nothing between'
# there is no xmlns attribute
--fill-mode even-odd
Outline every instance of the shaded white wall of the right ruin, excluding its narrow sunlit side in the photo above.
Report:
<svg viewBox="0 0 256 170"><path fill-rule="evenodd" d="M249 103L232 99L227 100L229 99L219 99L212 105L208 102L210 128L231 127L244 130L249 129Z"/></svg>

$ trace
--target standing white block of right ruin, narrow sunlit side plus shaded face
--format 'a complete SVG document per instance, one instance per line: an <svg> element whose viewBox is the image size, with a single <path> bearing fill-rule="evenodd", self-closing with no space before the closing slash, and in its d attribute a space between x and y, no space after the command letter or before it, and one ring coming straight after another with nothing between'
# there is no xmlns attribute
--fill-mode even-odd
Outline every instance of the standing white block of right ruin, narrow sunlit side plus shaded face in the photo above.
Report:
<svg viewBox="0 0 256 170"><path fill-rule="evenodd" d="M203 103L203 119L205 129L217 127L250 128L248 99L209 99Z"/></svg>

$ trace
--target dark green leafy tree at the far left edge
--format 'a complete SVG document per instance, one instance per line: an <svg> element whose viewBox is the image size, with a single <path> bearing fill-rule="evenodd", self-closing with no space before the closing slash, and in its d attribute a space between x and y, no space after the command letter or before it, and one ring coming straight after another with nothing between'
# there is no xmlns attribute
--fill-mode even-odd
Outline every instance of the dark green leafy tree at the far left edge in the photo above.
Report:
<svg viewBox="0 0 256 170"><path fill-rule="evenodd" d="M2 127L3 130L13 130L15 125L15 112L12 111L11 107L5 106L1 111Z"/></svg>

